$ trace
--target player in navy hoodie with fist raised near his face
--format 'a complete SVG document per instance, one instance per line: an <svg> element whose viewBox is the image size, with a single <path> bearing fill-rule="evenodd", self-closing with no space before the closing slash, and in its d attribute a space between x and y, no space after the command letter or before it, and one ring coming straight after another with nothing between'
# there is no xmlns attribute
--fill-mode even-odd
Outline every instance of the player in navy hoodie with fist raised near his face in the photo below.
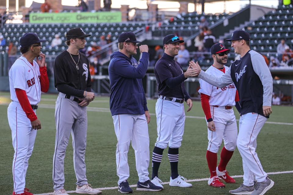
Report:
<svg viewBox="0 0 293 195"><path fill-rule="evenodd" d="M116 165L118 191L132 193L127 179L129 167L127 154L130 141L135 151L136 170L139 176L136 190L160 191L163 188L150 182L147 168L150 162L149 133L147 124L150 114L141 79L147 72L149 59L147 45L139 46L142 53L140 63L132 57L136 54L137 45L132 32L122 33L118 37L119 51L110 56L110 111L117 136Z"/></svg>

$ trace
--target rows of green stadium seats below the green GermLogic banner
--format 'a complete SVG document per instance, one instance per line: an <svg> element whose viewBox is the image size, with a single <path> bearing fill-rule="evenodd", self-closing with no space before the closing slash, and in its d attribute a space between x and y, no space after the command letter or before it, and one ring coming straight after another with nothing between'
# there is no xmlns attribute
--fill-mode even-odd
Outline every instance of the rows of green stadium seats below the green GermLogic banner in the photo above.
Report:
<svg viewBox="0 0 293 195"><path fill-rule="evenodd" d="M66 48L65 32L71 28L81 27L87 34L92 36L87 37L86 41L89 43L99 44L99 37L101 35L111 35L112 41L118 39L119 34L127 31L139 30L145 27L145 23L89 23L89 24L5 24L1 30L2 35L6 39L6 46L0 47L0 51L6 51L8 44L12 41L18 46L19 52L19 39L26 32L37 33L40 39L46 39L47 41L42 44L42 51L46 55L57 55L60 51ZM59 34L62 40L62 45L52 48L51 42L55 34Z"/></svg>

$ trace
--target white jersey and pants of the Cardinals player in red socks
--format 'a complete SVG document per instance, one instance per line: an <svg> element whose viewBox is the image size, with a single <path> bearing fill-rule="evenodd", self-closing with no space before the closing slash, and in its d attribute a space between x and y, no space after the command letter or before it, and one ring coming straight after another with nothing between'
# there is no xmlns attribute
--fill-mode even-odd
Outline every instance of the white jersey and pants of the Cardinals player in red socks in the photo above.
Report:
<svg viewBox="0 0 293 195"><path fill-rule="evenodd" d="M229 69L224 66L224 70ZM213 76L222 76L222 72L214 66L210 66L206 73ZM224 140L225 148L229 151L234 151L237 142L237 123L233 109L225 109L225 106L235 106L236 87L234 83L218 88L200 79L199 93L210 96L209 104L211 109L212 119L215 123L216 131L208 129L208 151L217 153L219 147Z"/></svg>

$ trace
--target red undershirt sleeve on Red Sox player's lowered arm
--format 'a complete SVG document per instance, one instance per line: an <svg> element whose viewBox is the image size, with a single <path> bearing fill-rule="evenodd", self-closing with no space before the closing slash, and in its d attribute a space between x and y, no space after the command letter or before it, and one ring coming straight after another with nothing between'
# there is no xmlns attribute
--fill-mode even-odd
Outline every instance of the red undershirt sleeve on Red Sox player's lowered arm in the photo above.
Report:
<svg viewBox="0 0 293 195"><path fill-rule="evenodd" d="M34 113L33 109L31 108L30 101L28 101L27 93L25 90L22 89L15 89L16 97L20 103L21 108L24 110L25 114L27 115L27 118L30 119L30 121L37 120L37 116Z"/></svg>

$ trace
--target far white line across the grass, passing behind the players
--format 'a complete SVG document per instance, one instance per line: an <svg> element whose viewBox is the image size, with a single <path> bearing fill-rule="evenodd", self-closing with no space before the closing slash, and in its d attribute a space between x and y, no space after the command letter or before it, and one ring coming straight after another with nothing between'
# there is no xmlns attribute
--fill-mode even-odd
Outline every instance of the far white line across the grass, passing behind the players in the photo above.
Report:
<svg viewBox="0 0 293 195"><path fill-rule="evenodd" d="M9 103L0 103L0 105L9 105ZM39 104L38 105L39 108L54 108L55 109L55 105L53 104ZM97 107L87 107L88 111L92 111L92 112L110 112L110 108L97 108ZM150 115L155 116L156 114L154 113L150 113ZM186 118L190 118L190 119L205 119L205 117L203 116L185 116ZM239 119L236 119L236 121L239 121ZM288 123L288 122L271 122L271 121L266 121L265 123L267 124L275 124L275 125L293 125L293 123Z"/></svg>

